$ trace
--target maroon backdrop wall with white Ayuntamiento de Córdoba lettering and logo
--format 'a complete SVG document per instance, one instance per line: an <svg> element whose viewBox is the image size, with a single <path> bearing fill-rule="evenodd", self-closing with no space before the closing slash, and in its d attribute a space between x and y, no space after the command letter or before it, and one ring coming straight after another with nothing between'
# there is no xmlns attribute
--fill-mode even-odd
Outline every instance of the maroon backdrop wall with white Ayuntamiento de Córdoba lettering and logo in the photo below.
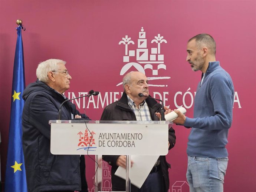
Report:
<svg viewBox="0 0 256 192"><path fill-rule="evenodd" d="M16 20L22 19L26 85L36 80L40 61L67 61L72 76L65 93L77 97L91 89L98 97L76 100L81 112L99 120L103 108L121 97L123 74L144 71L151 95L171 109L183 106L193 116L193 97L201 73L186 62L187 40L211 34L216 59L233 79L236 97L229 132L229 165L224 191L256 191L255 167L255 0L0 0L0 78L2 101L1 178L4 182L8 143ZM129 39L131 38L131 39ZM177 135L167 155L170 191L187 192L188 129L173 126ZM93 162L86 157L92 191ZM109 179L106 176L106 180Z"/></svg>

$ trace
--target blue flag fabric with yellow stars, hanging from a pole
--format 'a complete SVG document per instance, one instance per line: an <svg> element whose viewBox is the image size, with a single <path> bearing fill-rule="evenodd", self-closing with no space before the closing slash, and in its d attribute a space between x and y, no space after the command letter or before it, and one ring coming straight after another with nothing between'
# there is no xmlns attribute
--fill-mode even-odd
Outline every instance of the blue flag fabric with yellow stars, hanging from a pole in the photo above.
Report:
<svg viewBox="0 0 256 192"><path fill-rule="evenodd" d="M4 192L27 192L22 149L22 99L25 88L22 26L17 27L17 43L13 66L12 105L9 128Z"/></svg>

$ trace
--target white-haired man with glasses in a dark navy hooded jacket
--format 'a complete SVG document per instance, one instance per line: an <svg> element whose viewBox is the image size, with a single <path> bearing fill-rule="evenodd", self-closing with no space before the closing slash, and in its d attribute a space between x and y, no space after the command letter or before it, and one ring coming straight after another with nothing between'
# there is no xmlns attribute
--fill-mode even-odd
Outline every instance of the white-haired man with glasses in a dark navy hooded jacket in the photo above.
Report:
<svg viewBox="0 0 256 192"><path fill-rule="evenodd" d="M66 62L49 59L36 70L37 81L23 92L22 113L23 151L28 192L82 191L87 192L85 159L79 155L53 155L50 153L49 120L58 119L60 104L66 100L63 93L70 80ZM89 120L79 113L75 105L62 106L62 120L74 118Z"/></svg>

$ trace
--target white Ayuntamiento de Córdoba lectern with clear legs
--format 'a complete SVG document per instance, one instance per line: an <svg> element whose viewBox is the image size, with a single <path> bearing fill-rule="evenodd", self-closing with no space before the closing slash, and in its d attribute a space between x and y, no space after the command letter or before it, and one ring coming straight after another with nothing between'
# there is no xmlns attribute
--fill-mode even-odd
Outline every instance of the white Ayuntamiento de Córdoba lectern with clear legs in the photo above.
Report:
<svg viewBox="0 0 256 192"><path fill-rule="evenodd" d="M130 192L129 155L167 155L170 123L50 120L50 152L54 155L96 155L96 162L98 155L126 155L126 192ZM98 178L101 180L97 172L95 186L98 186Z"/></svg>

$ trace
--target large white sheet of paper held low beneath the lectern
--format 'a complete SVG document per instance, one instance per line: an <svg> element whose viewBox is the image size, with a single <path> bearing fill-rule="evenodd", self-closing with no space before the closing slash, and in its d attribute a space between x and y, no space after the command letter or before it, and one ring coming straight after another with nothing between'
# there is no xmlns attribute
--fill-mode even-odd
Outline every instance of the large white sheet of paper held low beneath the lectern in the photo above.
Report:
<svg viewBox="0 0 256 192"><path fill-rule="evenodd" d="M129 170L129 178L131 183L138 188L141 188L144 181L147 179L148 174L155 165L159 156L154 155L131 155L131 160L133 165ZM119 176L123 179L126 178L125 168L121 166L115 172L116 176Z"/></svg>

